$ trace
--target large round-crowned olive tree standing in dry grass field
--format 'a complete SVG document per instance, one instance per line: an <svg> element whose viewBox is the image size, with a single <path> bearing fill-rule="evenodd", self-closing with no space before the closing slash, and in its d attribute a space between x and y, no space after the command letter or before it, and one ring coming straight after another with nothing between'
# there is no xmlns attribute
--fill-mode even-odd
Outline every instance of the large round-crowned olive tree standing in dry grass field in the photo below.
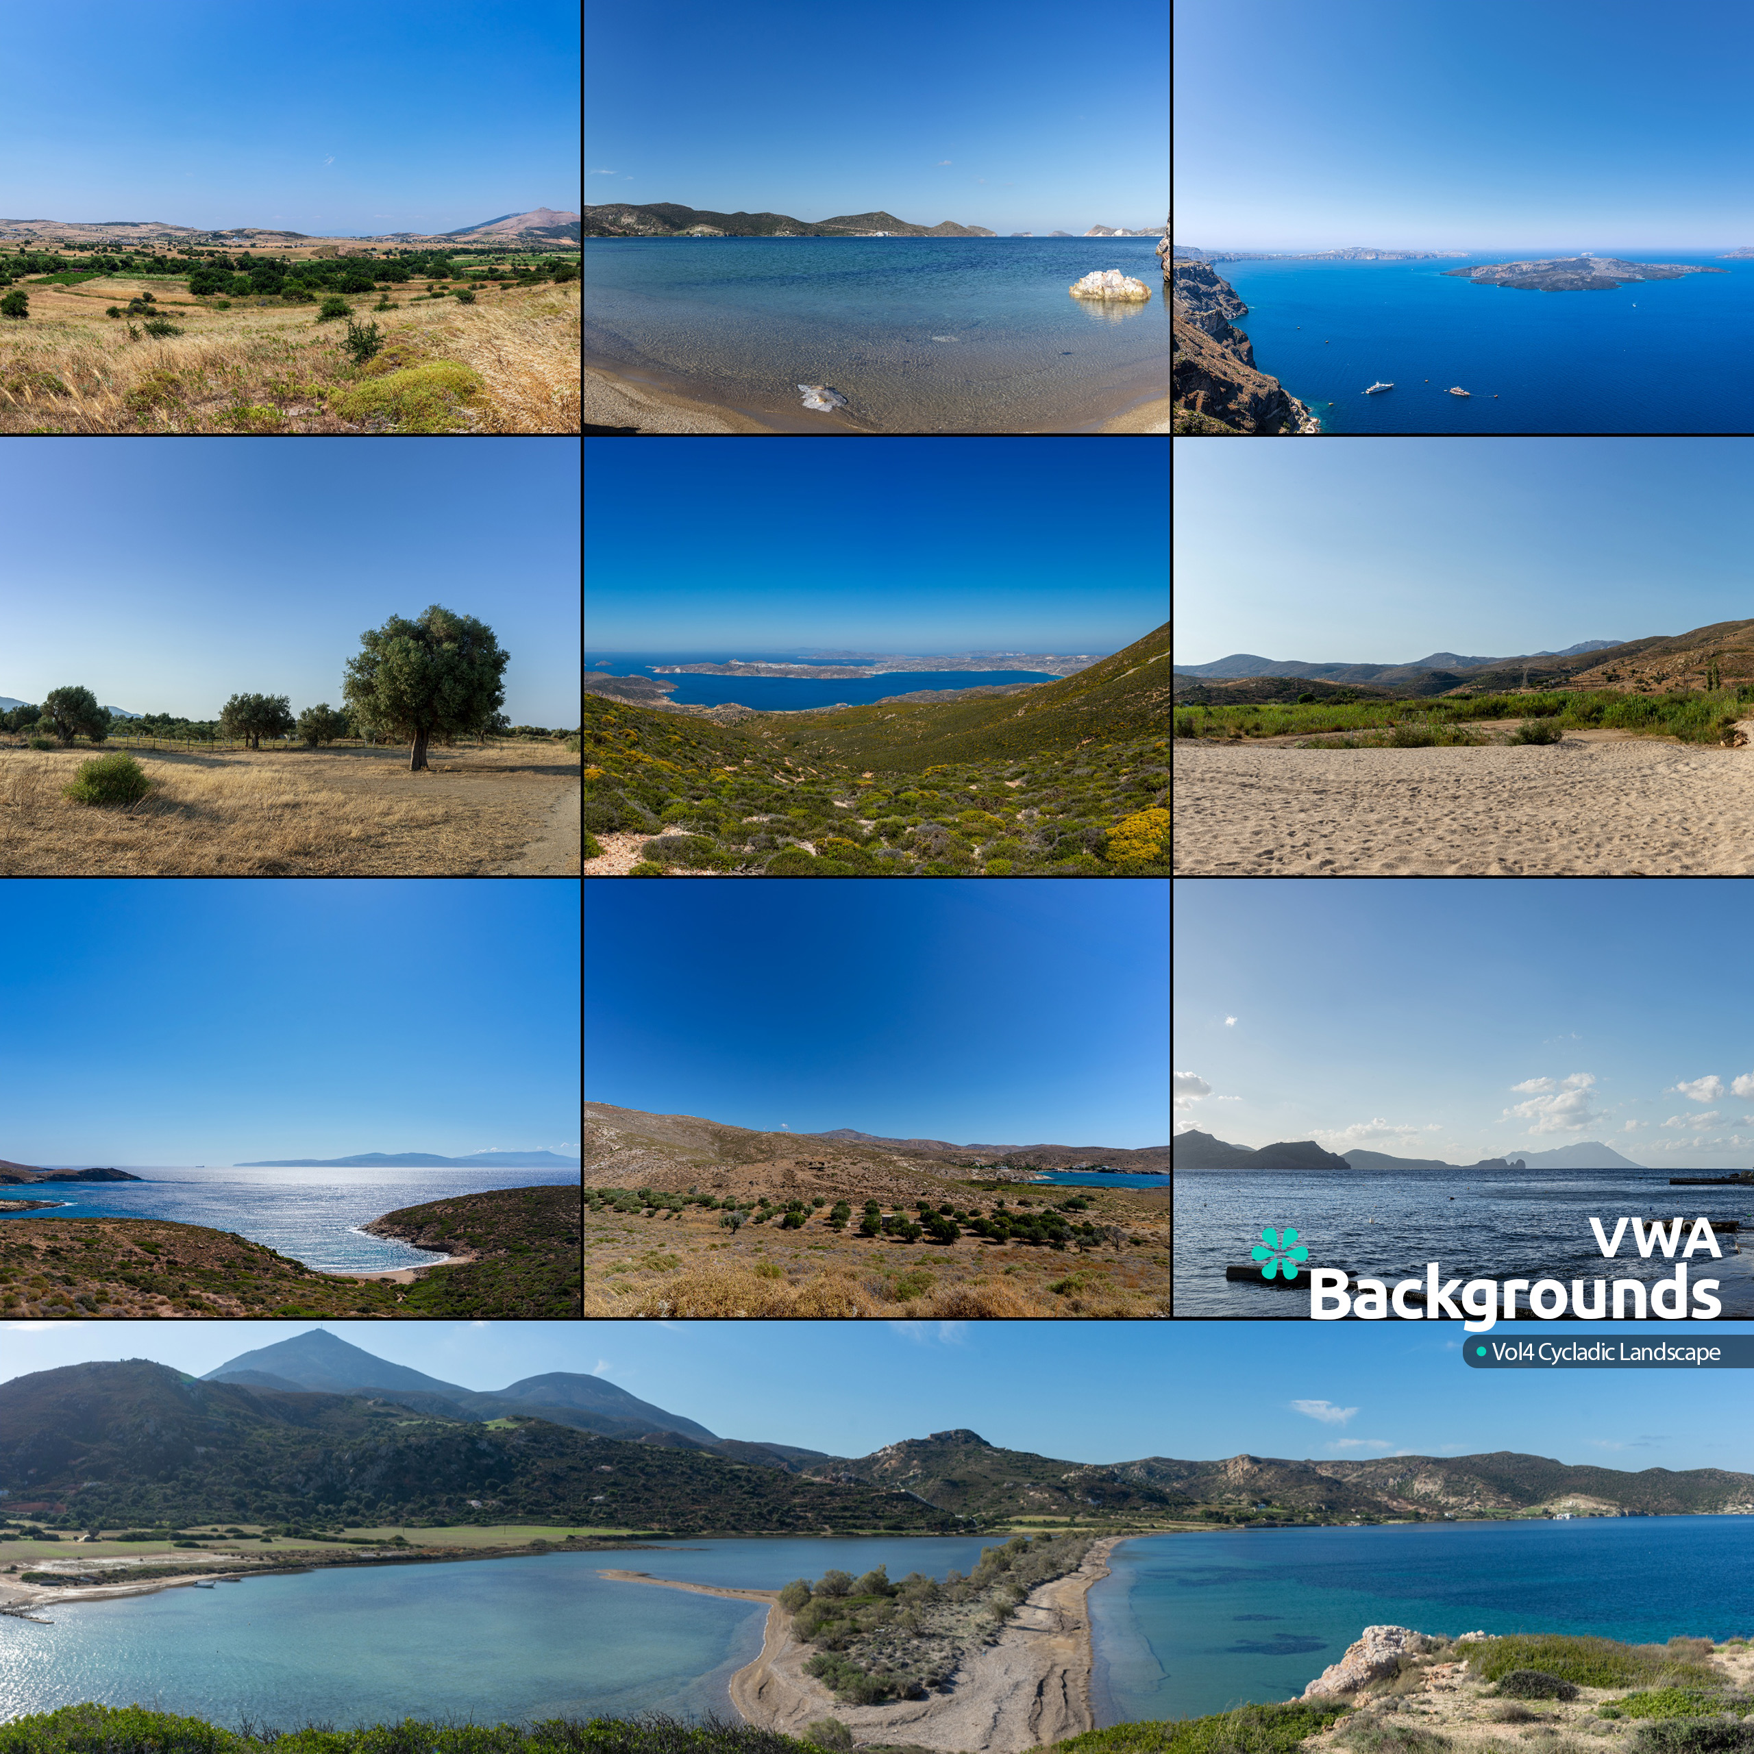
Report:
<svg viewBox="0 0 1754 1754"><path fill-rule="evenodd" d="M360 644L342 684L347 705L356 723L412 742L410 774L426 766L430 738L451 744L481 731L505 705L500 677L510 654L474 616L433 603L419 621L391 616Z"/></svg>

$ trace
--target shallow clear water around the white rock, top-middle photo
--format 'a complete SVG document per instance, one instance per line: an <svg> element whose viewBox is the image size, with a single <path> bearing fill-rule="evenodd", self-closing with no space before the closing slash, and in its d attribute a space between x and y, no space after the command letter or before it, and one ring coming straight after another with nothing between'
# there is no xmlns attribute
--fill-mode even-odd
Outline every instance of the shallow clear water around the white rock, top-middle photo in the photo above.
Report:
<svg viewBox="0 0 1754 1754"><path fill-rule="evenodd" d="M796 431L1070 431L1168 395L1156 242L593 239L584 347ZM1093 268L1151 298L1073 298ZM798 384L849 405L812 414Z"/></svg>

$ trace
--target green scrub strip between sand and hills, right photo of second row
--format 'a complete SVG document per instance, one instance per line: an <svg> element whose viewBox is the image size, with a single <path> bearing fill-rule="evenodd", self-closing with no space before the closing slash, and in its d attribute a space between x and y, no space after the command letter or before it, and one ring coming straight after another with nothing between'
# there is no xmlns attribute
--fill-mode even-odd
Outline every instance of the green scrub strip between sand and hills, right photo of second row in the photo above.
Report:
<svg viewBox="0 0 1754 1754"><path fill-rule="evenodd" d="M1268 702L1251 705L1177 703L1177 737L1321 737L1340 742L1310 747L1396 747L1484 742L1472 730L1482 721L1521 721L1524 730L1624 730L1645 737L1679 737L1691 744L1722 744L1738 719L1754 714L1754 684L1666 695L1619 689L1556 689L1551 693L1442 695L1421 700ZM1512 740L1544 742L1512 733Z"/></svg>

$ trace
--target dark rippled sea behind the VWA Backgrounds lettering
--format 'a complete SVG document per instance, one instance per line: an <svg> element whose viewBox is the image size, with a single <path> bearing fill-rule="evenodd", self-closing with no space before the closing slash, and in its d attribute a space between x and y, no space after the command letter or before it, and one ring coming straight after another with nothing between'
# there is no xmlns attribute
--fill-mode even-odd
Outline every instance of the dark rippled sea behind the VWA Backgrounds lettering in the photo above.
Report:
<svg viewBox="0 0 1754 1754"><path fill-rule="evenodd" d="M1640 1259L1629 1226L1619 1254L1603 1259L1589 1219L1600 1217L1612 1240L1621 1216L1740 1219L1743 1252L1729 1252L1726 1237L1724 1258L1696 1252L1687 1279L1721 1280L1724 1314L1754 1316L1754 1189L1670 1187L1666 1170L1177 1170L1175 1314L1307 1317L1300 1291L1224 1280L1266 1226L1296 1230L1314 1266L1375 1277L1424 1277L1426 1261L1442 1263L1445 1280L1651 1282L1673 1273L1661 1252Z"/></svg>

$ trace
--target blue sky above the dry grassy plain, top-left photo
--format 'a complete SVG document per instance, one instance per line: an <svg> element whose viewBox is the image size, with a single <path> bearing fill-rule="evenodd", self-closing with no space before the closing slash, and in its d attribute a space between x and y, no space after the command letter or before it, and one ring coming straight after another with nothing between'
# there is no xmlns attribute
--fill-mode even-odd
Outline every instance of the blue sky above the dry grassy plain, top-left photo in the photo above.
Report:
<svg viewBox="0 0 1754 1754"><path fill-rule="evenodd" d="M361 237L579 205L570 0L7 7L5 86L7 219Z"/></svg>

